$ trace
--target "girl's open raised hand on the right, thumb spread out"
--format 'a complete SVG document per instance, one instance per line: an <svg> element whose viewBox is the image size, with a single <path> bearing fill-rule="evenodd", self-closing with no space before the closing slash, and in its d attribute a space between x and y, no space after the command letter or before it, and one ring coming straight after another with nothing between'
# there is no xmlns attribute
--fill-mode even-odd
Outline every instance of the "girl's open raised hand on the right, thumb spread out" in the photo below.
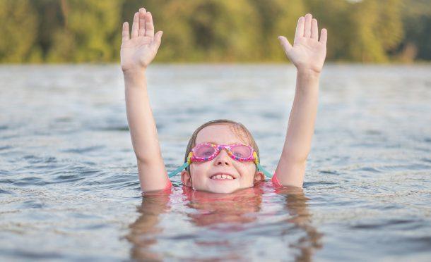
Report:
<svg viewBox="0 0 431 262"><path fill-rule="evenodd" d="M327 32L325 28L321 30L320 41L318 32L317 20L307 13L297 22L293 46L285 37L278 37L286 56L296 66L298 72L310 70L312 73L321 72L326 57Z"/></svg>

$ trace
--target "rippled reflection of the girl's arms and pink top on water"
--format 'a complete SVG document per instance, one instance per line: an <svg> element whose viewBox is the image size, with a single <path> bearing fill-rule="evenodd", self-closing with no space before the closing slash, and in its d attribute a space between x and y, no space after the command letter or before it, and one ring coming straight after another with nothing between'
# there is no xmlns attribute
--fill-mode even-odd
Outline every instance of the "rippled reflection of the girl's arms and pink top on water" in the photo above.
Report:
<svg viewBox="0 0 431 262"><path fill-rule="evenodd" d="M314 251L322 247L320 242L322 234L312 225L312 216L307 208L307 197L302 189L295 187L276 189L278 200L268 201L268 203L271 203L273 207L281 204L282 210L287 211L288 216L280 216L280 213L261 212L264 198L274 193L271 192L273 191L270 189L271 185L266 184L233 194L195 192L189 187L176 189L174 194L170 194L170 192L146 194L142 198L141 206L138 207L140 216L134 223L131 223L130 232L126 235L126 239L133 244L132 258L138 261L162 260L169 254L179 252L173 250L169 242L193 239L187 245L183 245L182 249L188 251L205 249L206 254L200 256L199 259L246 261L253 259L251 254L244 254L247 245L253 245L253 249L268 249L266 246L252 243L257 232L267 230L264 235L273 235L276 237L274 241L285 244L285 250L290 250L292 254L290 257L295 258L295 261L311 261ZM176 215L172 216L175 213L172 212L173 203L170 203L170 197L178 196L180 190L182 190L182 200L174 202L184 208L187 207L184 213L190 218L188 222L193 227L198 227L198 232L205 232L204 235L175 234L168 238L163 237L163 227L160 226L161 220L163 220L161 215L163 214L166 220L175 221ZM170 216L172 217L170 218ZM271 225L265 225L264 218L267 216L277 219ZM259 227L261 228L259 229ZM288 235L297 237L293 242L289 238L289 241L286 242L285 237ZM160 239L164 240L165 247L160 248L160 251L152 249L153 246L160 244ZM283 253L281 250L273 249L273 251ZM188 256L182 258L193 260L196 257L190 252Z"/></svg>

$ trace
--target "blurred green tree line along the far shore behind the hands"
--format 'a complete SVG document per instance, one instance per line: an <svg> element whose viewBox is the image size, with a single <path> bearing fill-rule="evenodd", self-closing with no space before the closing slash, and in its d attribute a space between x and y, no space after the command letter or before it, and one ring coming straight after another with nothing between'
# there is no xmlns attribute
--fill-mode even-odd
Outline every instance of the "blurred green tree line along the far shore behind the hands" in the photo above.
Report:
<svg viewBox="0 0 431 262"><path fill-rule="evenodd" d="M431 60L429 0L1 0L1 63L119 61L124 21L144 6L163 30L158 62L285 61L297 18L328 30L327 61Z"/></svg>

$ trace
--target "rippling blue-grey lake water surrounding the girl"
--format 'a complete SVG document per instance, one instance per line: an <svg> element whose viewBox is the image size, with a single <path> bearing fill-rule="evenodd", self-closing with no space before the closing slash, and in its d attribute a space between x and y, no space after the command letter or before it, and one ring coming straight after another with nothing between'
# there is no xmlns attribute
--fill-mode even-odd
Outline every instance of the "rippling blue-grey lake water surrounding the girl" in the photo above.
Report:
<svg viewBox="0 0 431 262"><path fill-rule="evenodd" d="M303 190L140 196L119 66L0 67L1 260L430 261L431 66L326 65ZM215 118L278 163L295 68L150 66L163 157ZM209 200L208 200L209 199Z"/></svg>

